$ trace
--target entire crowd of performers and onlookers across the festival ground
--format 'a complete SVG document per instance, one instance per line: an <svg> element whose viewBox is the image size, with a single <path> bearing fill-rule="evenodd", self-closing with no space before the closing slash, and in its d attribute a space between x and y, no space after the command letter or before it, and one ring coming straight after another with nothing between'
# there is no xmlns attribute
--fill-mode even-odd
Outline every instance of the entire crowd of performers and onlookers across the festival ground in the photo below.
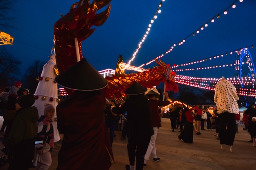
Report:
<svg viewBox="0 0 256 170"><path fill-rule="evenodd" d="M128 96L122 103L114 99L106 99L102 88L107 83L98 76L95 84L79 81L74 77L74 72L90 67L86 60L81 60L63 74L56 77L56 82L75 92L60 102L55 110L52 105L46 105L44 115L39 117L38 110L33 106L34 95L29 90L21 88L22 83L16 82L11 88L6 88L0 94L1 116L4 122L1 128L3 144L2 150L8 156L9 169L49 169L52 163L51 150L54 148L54 130L52 118L58 115L58 129L63 133L62 147L58 154L57 169L84 168L109 169L114 162L112 146L115 136L116 124L122 120L122 140L128 139L127 152L129 164L126 169L143 169L147 167L147 161L151 154L153 161L160 161L156 152L156 138L161 127L163 113L161 107L170 105L168 93L165 92L165 100L160 101L160 93L156 88L148 90L137 82L133 82L125 91ZM81 72L82 73L82 72ZM95 70L95 74L98 72ZM90 73L92 74L92 73ZM217 108L213 112L197 106L185 106L174 104L168 112L170 129L179 130L178 140L185 143L193 143L193 136L203 135L204 130L216 130L217 139L223 145L232 145L240 120L237 112L238 96L235 93L228 95L234 104L227 109L223 105L225 98L222 90L226 90L221 83L227 83L222 79L216 85L214 101ZM101 85L98 85L101 84ZM231 84L228 90L234 90ZM230 88L230 89L229 89ZM220 101L219 101L220 100ZM230 103L229 103L230 104ZM228 107L229 108L229 107ZM4 110L4 111L3 111ZM84 121L79 121L84 120ZM253 147L256 147L256 106L252 104L243 115L244 130L248 130ZM205 129L207 128L207 129ZM201 134L202 132L202 134ZM24 135L21 135L24 134ZM98 159L101 163L97 163Z"/></svg>

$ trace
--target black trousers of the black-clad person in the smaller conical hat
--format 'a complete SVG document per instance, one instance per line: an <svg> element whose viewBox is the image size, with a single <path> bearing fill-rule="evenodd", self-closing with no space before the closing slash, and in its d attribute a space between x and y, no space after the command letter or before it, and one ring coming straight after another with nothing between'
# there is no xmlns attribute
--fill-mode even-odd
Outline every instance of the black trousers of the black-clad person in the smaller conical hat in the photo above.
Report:
<svg viewBox="0 0 256 170"><path fill-rule="evenodd" d="M144 138L129 136L128 138L127 149L128 149L129 163L130 165L133 166L135 162L135 157L136 157L136 170L143 169L144 155L146 154L146 151L148 149L150 138L151 136L144 137Z"/></svg>

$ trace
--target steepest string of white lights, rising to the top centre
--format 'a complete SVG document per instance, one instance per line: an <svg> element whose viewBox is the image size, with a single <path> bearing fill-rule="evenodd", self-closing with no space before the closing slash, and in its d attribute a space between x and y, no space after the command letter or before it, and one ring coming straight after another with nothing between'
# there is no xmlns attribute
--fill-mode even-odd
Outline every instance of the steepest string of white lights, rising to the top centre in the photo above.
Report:
<svg viewBox="0 0 256 170"><path fill-rule="evenodd" d="M157 19L157 14L160 14L161 13L161 10L160 10L160 7L162 6L162 2L164 2L165 0L161 0L161 2L159 3L158 5L158 8L157 8L157 11L155 12L153 18L150 20L150 24L148 25L148 28L147 28L147 31L144 33L141 41L139 42L138 46L137 46L137 49L135 50L133 56L132 56L132 59L130 59L128 61L128 64L126 64L125 67L123 68L120 68L121 70L124 70L124 69L129 69L128 66L131 64L131 62L134 60L134 58L136 57L139 49L141 48L141 45L143 44L143 42L145 42L150 30L151 30L151 27L152 27L152 24L154 23L155 19ZM142 67L144 65L141 65L140 67Z"/></svg>

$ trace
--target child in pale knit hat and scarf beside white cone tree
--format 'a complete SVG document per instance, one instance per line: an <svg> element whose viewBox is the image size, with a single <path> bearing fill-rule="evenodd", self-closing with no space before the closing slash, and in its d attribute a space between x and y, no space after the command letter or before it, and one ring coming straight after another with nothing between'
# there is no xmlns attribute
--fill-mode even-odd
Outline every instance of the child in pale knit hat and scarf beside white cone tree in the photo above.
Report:
<svg viewBox="0 0 256 170"><path fill-rule="evenodd" d="M46 105L44 115L40 117L38 124L38 134L36 140L36 153L39 155L40 163L38 169L49 169L52 164L50 151L53 149L53 125L52 118L54 116L53 105ZM36 156L36 155L35 155ZM35 161L35 159L34 159ZM35 164L34 164L35 165Z"/></svg>

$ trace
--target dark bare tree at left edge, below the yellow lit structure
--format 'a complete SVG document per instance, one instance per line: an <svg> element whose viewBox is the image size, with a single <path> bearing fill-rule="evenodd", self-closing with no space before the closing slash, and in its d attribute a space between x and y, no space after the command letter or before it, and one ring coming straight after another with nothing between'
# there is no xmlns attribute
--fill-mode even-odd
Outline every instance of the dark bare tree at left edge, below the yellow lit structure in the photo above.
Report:
<svg viewBox="0 0 256 170"><path fill-rule="evenodd" d="M21 61L8 53L4 46L0 46L0 51L0 87L4 88L17 80Z"/></svg>

